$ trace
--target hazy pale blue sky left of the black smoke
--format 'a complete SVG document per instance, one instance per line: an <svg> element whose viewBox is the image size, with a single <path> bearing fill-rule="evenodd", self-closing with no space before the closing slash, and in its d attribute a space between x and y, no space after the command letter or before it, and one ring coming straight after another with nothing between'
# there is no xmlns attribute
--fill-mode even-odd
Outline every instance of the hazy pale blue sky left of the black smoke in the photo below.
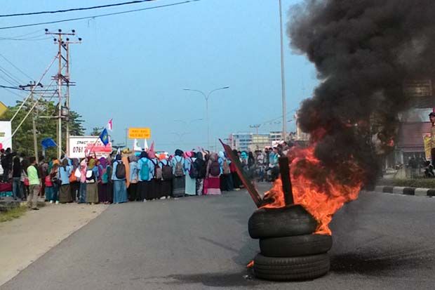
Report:
<svg viewBox="0 0 435 290"><path fill-rule="evenodd" d="M0 18L0 27L180 1L156 0L93 11ZM117 2L122 1L3 0L1 14ZM283 0L285 22L288 9L297 2ZM1 55L34 80L57 51L53 40L46 39L45 28L76 29L83 38L82 44L71 48L72 81L76 82L71 91L72 110L83 115L88 130L104 126L113 118L115 144L125 142L129 126L149 126L159 150L206 145L205 100L199 93L182 88L207 93L230 86L210 96L213 144L216 138L227 138L232 132L253 131L249 128L253 124L262 124L259 132L281 130L281 124L276 124L282 115L278 0L201 0L105 18L0 29ZM317 80L314 67L303 55L293 54L288 42L285 37L287 110L289 119L293 119L300 101L311 94ZM3 58L0 66L23 84L29 81ZM55 67L49 73L53 74ZM11 85L5 79L8 77L0 71L0 84ZM44 84L49 82L50 77L46 77ZM7 105L18 99L22 97L0 89L0 100ZM203 121L191 122L193 119ZM288 124L289 131L295 129L294 121ZM131 146L133 140L128 142Z"/></svg>

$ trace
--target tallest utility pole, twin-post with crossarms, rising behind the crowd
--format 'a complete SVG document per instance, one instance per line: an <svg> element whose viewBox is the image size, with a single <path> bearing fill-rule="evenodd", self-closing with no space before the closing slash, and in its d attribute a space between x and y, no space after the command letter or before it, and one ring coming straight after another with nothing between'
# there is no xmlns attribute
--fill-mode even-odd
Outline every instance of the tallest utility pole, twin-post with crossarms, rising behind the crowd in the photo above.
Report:
<svg viewBox="0 0 435 290"><path fill-rule="evenodd" d="M75 83L70 81L69 74L69 44L81 44L81 38L79 37L79 41L70 41L69 36L75 36L76 31L74 29L71 32L62 32L62 29L58 29L58 32L49 32L46 29L46 34L55 35L54 44L58 44L58 74L53 76L52 78L55 81L58 81L58 158L62 155L62 118L65 119L66 124L66 132L65 132L65 144L66 149L65 152L68 151L69 147L69 86L74 86ZM65 37L65 40L64 40ZM65 69L65 70L64 70ZM62 86L67 86L65 95L62 96ZM65 102L62 105L62 98L65 98Z"/></svg>

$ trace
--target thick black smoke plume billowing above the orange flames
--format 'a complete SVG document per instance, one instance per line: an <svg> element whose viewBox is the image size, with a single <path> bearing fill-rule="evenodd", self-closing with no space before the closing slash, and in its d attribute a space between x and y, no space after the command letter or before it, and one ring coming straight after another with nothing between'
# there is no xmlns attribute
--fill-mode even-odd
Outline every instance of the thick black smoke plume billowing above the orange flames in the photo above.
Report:
<svg viewBox="0 0 435 290"><path fill-rule="evenodd" d="M387 153L398 113L410 106L404 81L434 79L435 1L307 0L290 8L287 32L321 81L298 113L318 142L316 157L343 181L354 159L370 183L381 159L373 132Z"/></svg>

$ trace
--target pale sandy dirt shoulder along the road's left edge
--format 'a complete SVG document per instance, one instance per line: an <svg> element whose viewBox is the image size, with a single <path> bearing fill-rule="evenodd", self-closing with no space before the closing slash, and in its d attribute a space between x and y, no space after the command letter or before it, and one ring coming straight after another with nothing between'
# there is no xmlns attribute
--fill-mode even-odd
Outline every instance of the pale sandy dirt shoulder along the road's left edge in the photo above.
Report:
<svg viewBox="0 0 435 290"><path fill-rule="evenodd" d="M103 204L47 204L0 223L0 286L105 209Z"/></svg>

